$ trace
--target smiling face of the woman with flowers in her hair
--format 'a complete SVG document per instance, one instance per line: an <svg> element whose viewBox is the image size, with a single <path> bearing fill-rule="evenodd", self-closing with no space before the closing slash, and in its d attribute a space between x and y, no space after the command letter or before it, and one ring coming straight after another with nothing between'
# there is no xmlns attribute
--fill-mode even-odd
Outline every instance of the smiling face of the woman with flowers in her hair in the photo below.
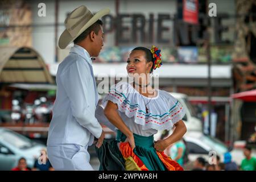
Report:
<svg viewBox="0 0 256 182"><path fill-rule="evenodd" d="M144 51L135 50L131 51L128 59L126 70L129 75L138 75L150 73L152 67L152 61L147 62Z"/></svg>

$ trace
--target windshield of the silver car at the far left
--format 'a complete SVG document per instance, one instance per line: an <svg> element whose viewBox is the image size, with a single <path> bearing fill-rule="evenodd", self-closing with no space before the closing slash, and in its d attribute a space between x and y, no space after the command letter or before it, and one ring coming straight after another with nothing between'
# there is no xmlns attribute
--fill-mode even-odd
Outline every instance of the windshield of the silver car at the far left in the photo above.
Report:
<svg viewBox="0 0 256 182"><path fill-rule="evenodd" d="M3 140L19 149L27 149L33 146L30 139L12 131L3 131L0 135L0 140Z"/></svg>

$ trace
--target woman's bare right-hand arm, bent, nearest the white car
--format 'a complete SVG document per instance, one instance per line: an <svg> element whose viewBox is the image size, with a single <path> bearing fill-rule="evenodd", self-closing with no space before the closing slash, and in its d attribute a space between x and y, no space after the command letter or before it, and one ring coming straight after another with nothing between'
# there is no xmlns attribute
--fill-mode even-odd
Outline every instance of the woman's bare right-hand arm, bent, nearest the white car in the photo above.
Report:
<svg viewBox="0 0 256 182"><path fill-rule="evenodd" d="M182 120L175 123L174 132L164 140L158 140L154 147L156 151L164 151L170 144L180 140L183 135L187 132L187 127Z"/></svg>

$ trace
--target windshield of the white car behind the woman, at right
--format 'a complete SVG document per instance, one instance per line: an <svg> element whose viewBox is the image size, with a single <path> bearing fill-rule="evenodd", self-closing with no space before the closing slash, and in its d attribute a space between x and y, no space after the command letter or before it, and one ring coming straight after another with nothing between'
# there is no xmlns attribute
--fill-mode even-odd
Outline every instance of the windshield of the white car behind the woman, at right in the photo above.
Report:
<svg viewBox="0 0 256 182"><path fill-rule="evenodd" d="M225 152L228 152L228 147L226 147L224 143L216 138L204 135L200 138L200 140L208 144L218 154L224 154Z"/></svg>

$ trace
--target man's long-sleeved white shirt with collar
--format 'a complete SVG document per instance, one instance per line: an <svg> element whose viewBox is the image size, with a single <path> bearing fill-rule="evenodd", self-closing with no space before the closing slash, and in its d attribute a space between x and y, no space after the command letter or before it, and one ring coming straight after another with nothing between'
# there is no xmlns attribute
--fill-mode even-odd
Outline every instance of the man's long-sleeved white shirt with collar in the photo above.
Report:
<svg viewBox="0 0 256 182"><path fill-rule="evenodd" d="M89 53L75 44L60 63L53 117L47 145L80 144L90 146L102 127L95 117L98 92Z"/></svg>

